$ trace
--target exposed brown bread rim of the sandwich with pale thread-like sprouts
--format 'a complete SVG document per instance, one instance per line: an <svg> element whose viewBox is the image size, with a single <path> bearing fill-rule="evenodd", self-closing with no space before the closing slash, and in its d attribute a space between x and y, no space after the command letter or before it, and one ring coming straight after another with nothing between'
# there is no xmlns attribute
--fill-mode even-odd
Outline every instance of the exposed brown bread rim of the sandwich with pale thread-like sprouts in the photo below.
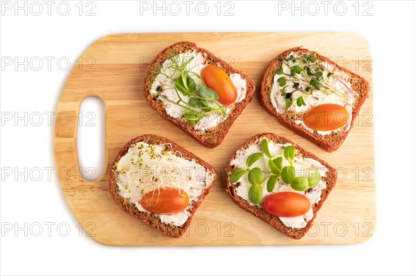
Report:
<svg viewBox="0 0 415 276"><path fill-rule="evenodd" d="M117 185L117 175L114 170L111 170L109 173L109 193L111 194L111 197L113 201L122 209L124 212L129 213L133 215L134 217L138 217L138 219L141 219L146 224L149 224L149 226L152 226L159 230L163 235L166 235L168 237L174 237L178 238L181 237L185 232L186 229L190 226L190 222L192 221L192 217L194 213L196 212L197 208L199 208L199 205L202 203L203 199L208 195L210 192L210 188L212 188L213 182L215 181L217 175L216 171L212 166L210 166L208 163L200 159L199 157L196 157L192 152L189 152L182 148L181 146L178 146L177 144L174 144L172 141L170 141L167 138L159 137L156 135L141 135L139 137L136 137L129 141L125 146L121 148L121 150L118 152L118 155L114 159L113 166L115 166L116 162L120 160L120 158L125 155L129 149L129 147L133 144L136 144L140 141L146 141L147 144L171 144L172 150L176 150L178 152L181 152L183 155L183 158L188 159L194 159L197 164L200 164L201 166L205 167L206 170L209 170L212 172L212 184L205 188L205 191L203 195L199 198L199 201L190 201L190 204L192 204L192 211L190 212L190 216L183 224L182 226L174 226L172 224L165 224L160 220L160 217L157 217L156 215L153 215L151 213L141 212L136 208L136 206L133 206L129 203L127 199L124 199L120 195L120 189Z"/></svg>

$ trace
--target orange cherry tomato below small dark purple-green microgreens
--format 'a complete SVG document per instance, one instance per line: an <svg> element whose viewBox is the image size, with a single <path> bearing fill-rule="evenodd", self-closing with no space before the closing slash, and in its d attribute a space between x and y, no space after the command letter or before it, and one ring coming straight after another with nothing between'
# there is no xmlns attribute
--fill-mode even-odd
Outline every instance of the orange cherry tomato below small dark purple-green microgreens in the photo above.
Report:
<svg viewBox="0 0 415 276"><path fill-rule="evenodd" d="M347 123L349 112L344 106L335 103L323 103L307 110L304 124L312 130L335 130Z"/></svg>

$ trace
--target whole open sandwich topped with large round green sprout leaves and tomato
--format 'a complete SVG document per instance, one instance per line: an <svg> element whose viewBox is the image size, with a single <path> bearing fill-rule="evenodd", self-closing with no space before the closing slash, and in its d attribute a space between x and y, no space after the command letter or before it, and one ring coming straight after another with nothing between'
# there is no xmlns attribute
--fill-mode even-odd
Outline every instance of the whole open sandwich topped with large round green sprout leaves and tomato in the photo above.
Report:
<svg viewBox="0 0 415 276"><path fill-rule="evenodd" d="M306 235L337 181L335 168L273 133L248 139L226 171L232 199L293 239Z"/></svg>

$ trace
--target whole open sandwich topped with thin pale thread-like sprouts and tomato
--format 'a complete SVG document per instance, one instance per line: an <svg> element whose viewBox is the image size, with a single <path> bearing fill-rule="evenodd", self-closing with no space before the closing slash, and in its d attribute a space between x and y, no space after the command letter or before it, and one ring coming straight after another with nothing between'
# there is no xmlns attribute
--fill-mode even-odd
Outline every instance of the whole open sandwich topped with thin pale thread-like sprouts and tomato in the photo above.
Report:
<svg viewBox="0 0 415 276"><path fill-rule="evenodd" d="M181 237L208 195L216 171L192 152L156 135L127 143L114 160L109 192L125 212L168 237Z"/></svg>

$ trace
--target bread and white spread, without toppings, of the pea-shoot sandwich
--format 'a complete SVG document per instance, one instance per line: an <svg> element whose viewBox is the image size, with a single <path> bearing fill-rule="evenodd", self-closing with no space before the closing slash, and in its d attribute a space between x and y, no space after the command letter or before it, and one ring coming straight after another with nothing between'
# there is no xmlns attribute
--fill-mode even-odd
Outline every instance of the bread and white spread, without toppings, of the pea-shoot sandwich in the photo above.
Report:
<svg viewBox="0 0 415 276"><path fill-rule="evenodd" d="M219 115L219 113L214 112L208 117L201 119L197 124L190 124L186 119L183 106L187 106L189 98L178 90L181 99L185 100L185 102L181 101L176 96L174 82L171 79L165 78L165 75L177 77L171 74L172 70L170 70L171 67L169 65L172 64L172 61L181 61L186 59L186 57L194 57L189 67L192 66L190 70L194 70L198 74L200 74L204 66L213 64L219 66L230 76L232 83L237 88L238 97L234 103L225 105L226 115ZM163 68L170 69L165 71ZM161 72L162 70L163 72ZM165 74L165 72L168 73ZM201 82L197 77L193 76L192 79L196 83ZM145 99L151 108L157 110L161 116L187 132L188 135L199 141L203 146L214 148L221 144L235 119L251 101L252 95L255 92L255 83L243 72L232 68L228 63L219 59L219 57L215 57L208 50L199 48L195 43L189 41L180 41L162 50L150 63L145 74L143 91ZM171 99L176 103L180 103L181 106L172 103Z"/></svg>

